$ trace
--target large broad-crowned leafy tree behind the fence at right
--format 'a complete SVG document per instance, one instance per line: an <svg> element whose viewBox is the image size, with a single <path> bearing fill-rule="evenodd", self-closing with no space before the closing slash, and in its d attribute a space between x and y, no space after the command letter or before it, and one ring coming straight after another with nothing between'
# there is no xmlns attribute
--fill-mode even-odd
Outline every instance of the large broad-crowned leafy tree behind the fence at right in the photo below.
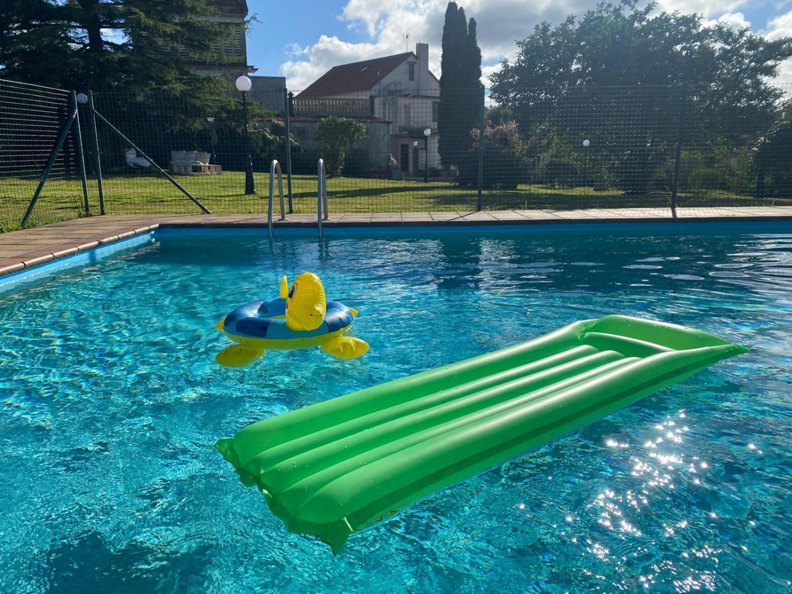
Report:
<svg viewBox="0 0 792 594"><path fill-rule="evenodd" d="M624 0L537 25L490 78L491 96L522 134L545 129L570 163L594 154L617 187L645 194L668 179L683 109L697 143L744 145L767 129L781 96L771 78L790 56L792 39Z"/></svg>

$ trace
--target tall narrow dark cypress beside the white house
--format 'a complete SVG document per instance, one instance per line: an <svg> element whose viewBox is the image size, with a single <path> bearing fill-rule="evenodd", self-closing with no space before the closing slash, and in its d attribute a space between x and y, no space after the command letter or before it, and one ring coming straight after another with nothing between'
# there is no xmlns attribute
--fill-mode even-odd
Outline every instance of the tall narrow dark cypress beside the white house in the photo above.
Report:
<svg viewBox="0 0 792 594"><path fill-rule="evenodd" d="M471 18L468 25L456 2L446 8L442 48L437 150L444 166L459 167L464 179L470 169L470 130L478 126L481 105L482 52L476 21Z"/></svg>

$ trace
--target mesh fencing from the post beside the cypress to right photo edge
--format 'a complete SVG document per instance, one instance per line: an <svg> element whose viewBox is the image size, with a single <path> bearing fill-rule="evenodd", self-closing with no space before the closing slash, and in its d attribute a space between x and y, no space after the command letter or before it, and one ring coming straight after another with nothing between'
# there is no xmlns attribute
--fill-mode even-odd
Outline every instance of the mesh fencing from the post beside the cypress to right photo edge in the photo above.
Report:
<svg viewBox="0 0 792 594"><path fill-rule="evenodd" d="M485 187L503 191L484 207L792 204L787 91L735 105L681 86L516 89L487 102Z"/></svg>

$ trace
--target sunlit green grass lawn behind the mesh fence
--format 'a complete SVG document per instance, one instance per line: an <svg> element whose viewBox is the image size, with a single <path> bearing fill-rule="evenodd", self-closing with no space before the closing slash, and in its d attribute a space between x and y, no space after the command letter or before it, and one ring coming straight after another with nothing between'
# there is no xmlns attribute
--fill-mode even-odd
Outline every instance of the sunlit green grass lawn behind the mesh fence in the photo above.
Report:
<svg viewBox="0 0 792 594"><path fill-rule="evenodd" d="M177 181L215 214L264 213L269 175L256 173L256 196L244 193L245 176L229 171L221 176L177 176ZM0 179L0 225L19 228L37 180ZM284 193L286 192L284 176ZM200 209L159 174L109 175L104 179L105 211L112 215L189 214ZM327 181L330 212L471 211L476 208L475 188L444 181L391 181L363 177L334 177ZM277 192L277 187L276 187ZM277 194L276 194L277 196ZM316 211L316 177L292 179L295 212ZM99 211L96 181L89 181L91 211ZM618 190L594 192L592 188L551 188L521 185L516 190L485 190L485 210L667 207L670 192L649 196L623 196ZM80 181L53 179L44 186L31 225L52 223L84 215ZM752 206L792 204L792 200L755 200L728 192L680 193L680 206ZM278 206L276 201L275 210Z"/></svg>

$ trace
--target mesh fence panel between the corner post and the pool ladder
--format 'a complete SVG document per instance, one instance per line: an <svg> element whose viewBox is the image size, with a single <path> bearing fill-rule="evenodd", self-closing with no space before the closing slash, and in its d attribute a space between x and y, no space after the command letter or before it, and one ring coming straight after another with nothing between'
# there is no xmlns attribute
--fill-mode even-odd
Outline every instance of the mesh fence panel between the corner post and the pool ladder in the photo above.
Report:
<svg viewBox="0 0 792 594"><path fill-rule="evenodd" d="M285 97L283 90L257 91L257 97L261 102L246 101L246 134L240 93L212 101L166 93L96 93L106 211L200 214L200 207L159 166L212 213L263 212L272 159L282 162L286 171L283 109L271 109L284 105ZM254 194L246 194L248 163L254 172Z"/></svg>

